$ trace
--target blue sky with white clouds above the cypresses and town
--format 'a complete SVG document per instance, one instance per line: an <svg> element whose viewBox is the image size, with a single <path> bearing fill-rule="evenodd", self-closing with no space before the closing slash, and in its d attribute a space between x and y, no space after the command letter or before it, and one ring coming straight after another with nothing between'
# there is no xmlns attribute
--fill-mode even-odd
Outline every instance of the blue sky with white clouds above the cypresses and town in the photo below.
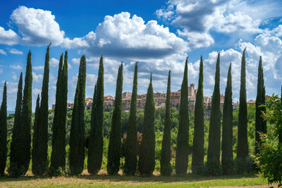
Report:
<svg viewBox="0 0 282 188"><path fill-rule="evenodd" d="M282 1L5 1L0 8L0 87L8 87L8 110L16 104L20 72L32 51L32 101L42 87L44 54L49 42L49 107L55 102L61 53L68 51L68 101L73 102L80 57L87 57L86 96L92 96L99 57L104 56L105 94L114 96L118 65L123 61L123 91L131 92L139 61L138 92L145 93L149 73L154 92L182 82L189 56L188 82L197 87L199 59L204 58L204 95L214 88L216 56L221 52L221 93L232 63L233 101L238 101L240 60L247 48L247 99L255 99L257 65L262 56L266 94L281 91ZM0 89L0 92L2 91ZM0 94L1 96L1 94Z"/></svg>

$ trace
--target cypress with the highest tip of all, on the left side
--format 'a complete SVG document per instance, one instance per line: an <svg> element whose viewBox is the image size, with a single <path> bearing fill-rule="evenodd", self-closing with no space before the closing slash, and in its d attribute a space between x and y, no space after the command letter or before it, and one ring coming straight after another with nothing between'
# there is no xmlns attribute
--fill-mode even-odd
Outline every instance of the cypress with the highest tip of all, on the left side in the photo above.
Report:
<svg viewBox="0 0 282 188"><path fill-rule="evenodd" d="M42 175L46 170L48 150L48 87L49 87L49 46L44 63L41 103L38 116L38 137L33 137L32 143L32 173ZM36 138L36 139L35 139Z"/></svg>

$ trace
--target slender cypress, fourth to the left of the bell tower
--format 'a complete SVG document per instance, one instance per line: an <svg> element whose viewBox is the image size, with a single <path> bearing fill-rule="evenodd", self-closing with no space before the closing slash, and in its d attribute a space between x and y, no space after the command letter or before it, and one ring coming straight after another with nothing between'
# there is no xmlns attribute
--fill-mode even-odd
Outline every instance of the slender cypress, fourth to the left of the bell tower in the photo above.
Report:
<svg viewBox="0 0 282 188"><path fill-rule="evenodd" d="M138 63L135 63L133 92L131 95L130 112L128 118L128 130L125 141L125 175L134 175L137 166L137 73Z"/></svg>

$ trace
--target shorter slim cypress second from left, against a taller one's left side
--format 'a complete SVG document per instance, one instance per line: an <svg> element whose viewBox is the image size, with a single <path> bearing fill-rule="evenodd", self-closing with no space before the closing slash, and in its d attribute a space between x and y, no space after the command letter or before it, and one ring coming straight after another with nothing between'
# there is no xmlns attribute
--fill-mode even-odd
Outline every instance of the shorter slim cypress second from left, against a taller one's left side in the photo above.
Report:
<svg viewBox="0 0 282 188"><path fill-rule="evenodd" d="M18 93L15 109L15 118L13 121L13 132L12 132L12 142L10 151L10 166L8 168L8 173L12 177L18 177L20 171L18 170L18 147L20 143L18 142L20 137L19 127L22 118L22 99L23 99L23 73L20 73L20 80L18 81Z"/></svg>

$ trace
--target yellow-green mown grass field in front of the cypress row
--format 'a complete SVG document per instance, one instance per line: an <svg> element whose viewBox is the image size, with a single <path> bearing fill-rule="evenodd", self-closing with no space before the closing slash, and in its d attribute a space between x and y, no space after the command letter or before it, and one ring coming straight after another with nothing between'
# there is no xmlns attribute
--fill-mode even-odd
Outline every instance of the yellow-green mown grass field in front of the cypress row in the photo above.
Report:
<svg viewBox="0 0 282 188"><path fill-rule="evenodd" d="M100 173L75 177L0 177L0 187L269 187L258 175L202 177L197 175L173 175L164 177L109 176Z"/></svg>

